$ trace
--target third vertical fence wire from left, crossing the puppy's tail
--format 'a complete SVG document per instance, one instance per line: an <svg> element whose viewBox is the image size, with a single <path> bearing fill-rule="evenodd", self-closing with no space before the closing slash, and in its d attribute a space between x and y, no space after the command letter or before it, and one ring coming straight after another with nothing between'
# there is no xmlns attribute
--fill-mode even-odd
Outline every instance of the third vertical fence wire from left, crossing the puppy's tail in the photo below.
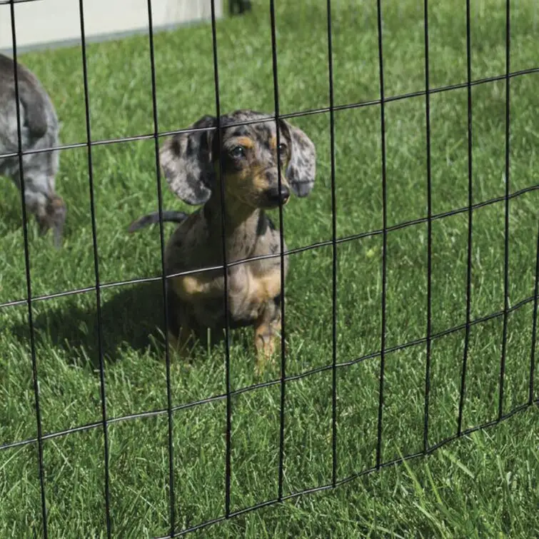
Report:
<svg viewBox="0 0 539 539"><path fill-rule="evenodd" d="M159 247L161 248L161 273L163 290L163 322L165 326L165 364L166 364L166 412L168 416L168 489L170 495L170 519L171 537L174 536L176 528L176 496L174 491L174 446L173 446L173 415L172 415L172 389L171 389L171 356L168 349L168 287L166 286L166 265L165 265L165 236L163 232L163 192L161 189L161 166L159 165L159 124L157 110L157 86L156 86L156 61L155 49L153 45L153 14L151 0L148 0L148 44L150 48L151 67L151 100L153 109L153 143L156 156L156 181L157 181L157 203L159 212Z"/></svg>

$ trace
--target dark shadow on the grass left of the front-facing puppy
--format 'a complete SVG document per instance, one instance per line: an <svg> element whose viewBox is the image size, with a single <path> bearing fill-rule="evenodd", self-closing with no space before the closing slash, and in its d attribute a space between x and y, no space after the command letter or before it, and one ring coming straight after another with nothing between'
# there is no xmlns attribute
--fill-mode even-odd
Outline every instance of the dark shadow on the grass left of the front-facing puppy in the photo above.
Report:
<svg viewBox="0 0 539 539"><path fill-rule="evenodd" d="M34 303L36 346L56 348L70 362L99 368L99 331L95 295L71 296ZM160 281L101 293L101 348L106 361L116 362L131 351L163 348L164 314ZM13 335L30 342L27 323L15 323Z"/></svg>

